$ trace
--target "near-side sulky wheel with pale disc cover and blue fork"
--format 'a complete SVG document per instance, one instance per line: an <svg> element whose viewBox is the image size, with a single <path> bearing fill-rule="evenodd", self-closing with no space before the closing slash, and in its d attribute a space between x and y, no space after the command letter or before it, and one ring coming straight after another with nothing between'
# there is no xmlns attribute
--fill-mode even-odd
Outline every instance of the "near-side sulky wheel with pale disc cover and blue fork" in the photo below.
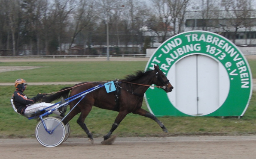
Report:
<svg viewBox="0 0 256 159"><path fill-rule="evenodd" d="M49 133L43 126L43 121L48 131L52 131L58 124L58 127ZM53 117L44 118L36 127L37 141L45 147L56 147L64 141L66 135L65 125L59 119Z"/></svg>

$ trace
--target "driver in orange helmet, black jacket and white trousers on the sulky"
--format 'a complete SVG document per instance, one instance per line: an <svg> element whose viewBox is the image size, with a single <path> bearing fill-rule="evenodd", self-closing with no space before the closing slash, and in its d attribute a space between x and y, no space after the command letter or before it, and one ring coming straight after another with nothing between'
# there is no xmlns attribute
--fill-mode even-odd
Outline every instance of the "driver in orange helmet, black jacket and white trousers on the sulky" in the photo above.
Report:
<svg viewBox="0 0 256 159"><path fill-rule="evenodd" d="M52 103L45 103L45 102L37 103L44 96L41 93L37 94L37 96L32 97L32 98L29 98L25 94L23 94L23 92L27 88L27 82L24 79L17 79L15 81L14 85L15 85L16 89L15 89L14 93L12 94L11 103L12 103L12 107L15 112L17 112L19 114L29 114L29 113L34 113L34 112L37 112L39 110L45 109L45 108L53 105ZM46 109L46 111L49 111L57 106L58 106L58 104ZM60 113L58 111L58 109L53 111L53 113L55 115L58 115L61 117L64 117L64 115L65 115L64 112Z"/></svg>

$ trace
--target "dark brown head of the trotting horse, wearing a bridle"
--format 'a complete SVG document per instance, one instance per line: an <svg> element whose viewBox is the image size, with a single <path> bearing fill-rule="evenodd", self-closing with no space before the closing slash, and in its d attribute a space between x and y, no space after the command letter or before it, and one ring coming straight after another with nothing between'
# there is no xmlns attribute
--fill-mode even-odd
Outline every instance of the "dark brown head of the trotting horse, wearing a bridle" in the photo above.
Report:
<svg viewBox="0 0 256 159"><path fill-rule="evenodd" d="M163 71L159 69L158 65L154 65L154 68L155 68L155 77L157 78L155 84L158 86L161 86L166 93L171 92L174 87L171 85L171 83L169 82L169 80L167 79Z"/></svg>

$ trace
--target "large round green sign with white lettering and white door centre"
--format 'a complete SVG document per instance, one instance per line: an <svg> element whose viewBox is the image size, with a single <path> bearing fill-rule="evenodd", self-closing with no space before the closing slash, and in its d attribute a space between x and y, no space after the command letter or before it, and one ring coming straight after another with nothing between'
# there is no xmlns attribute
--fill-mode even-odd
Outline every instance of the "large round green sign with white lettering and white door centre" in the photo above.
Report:
<svg viewBox="0 0 256 159"><path fill-rule="evenodd" d="M213 32L190 31L157 48L146 69L159 65L173 92L150 87L145 99L156 116L242 116L252 94L252 75L244 55Z"/></svg>

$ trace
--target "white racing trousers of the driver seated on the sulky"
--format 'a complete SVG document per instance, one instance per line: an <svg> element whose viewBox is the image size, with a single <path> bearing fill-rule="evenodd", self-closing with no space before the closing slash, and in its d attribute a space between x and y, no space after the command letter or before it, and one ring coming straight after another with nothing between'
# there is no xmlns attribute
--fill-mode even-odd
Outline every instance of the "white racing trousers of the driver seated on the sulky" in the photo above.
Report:
<svg viewBox="0 0 256 159"><path fill-rule="evenodd" d="M55 106L52 106L52 105L53 105L52 103L45 103L45 102L32 104L30 106L27 106L24 114L34 113L34 112L37 112L38 110L42 110L42 109L45 109L45 108L51 106L50 108L46 109L46 111L49 111L49 110L59 106L58 104L56 104ZM53 113L58 116L61 115L61 113L58 111L58 109L53 111Z"/></svg>

